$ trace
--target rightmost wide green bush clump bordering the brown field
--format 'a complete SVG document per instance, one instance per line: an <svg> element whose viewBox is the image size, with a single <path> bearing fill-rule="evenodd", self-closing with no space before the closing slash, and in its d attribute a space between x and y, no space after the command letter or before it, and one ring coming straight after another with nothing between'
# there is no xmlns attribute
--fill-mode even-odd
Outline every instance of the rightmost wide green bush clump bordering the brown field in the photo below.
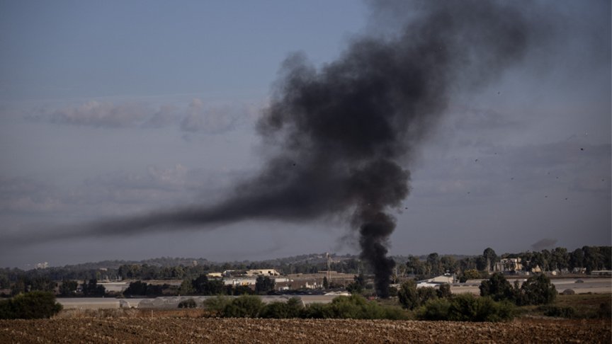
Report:
<svg viewBox="0 0 612 344"><path fill-rule="evenodd" d="M417 312L421 320L509 321L514 318L514 305L494 302L490 297L460 294L453 299L433 299Z"/></svg>

